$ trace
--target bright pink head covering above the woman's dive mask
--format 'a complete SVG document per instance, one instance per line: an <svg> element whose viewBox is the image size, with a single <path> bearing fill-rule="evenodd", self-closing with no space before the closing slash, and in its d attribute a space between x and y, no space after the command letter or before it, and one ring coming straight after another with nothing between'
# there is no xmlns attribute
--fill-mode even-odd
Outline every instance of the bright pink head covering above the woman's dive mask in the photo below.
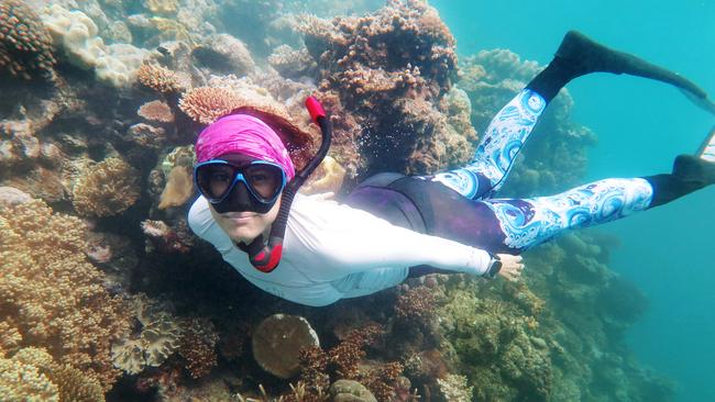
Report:
<svg viewBox="0 0 715 402"><path fill-rule="evenodd" d="M204 129L196 139L196 159L215 159L226 154L242 154L279 165L288 180L296 176L288 149L273 129L248 114L230 114Z"/></svg>

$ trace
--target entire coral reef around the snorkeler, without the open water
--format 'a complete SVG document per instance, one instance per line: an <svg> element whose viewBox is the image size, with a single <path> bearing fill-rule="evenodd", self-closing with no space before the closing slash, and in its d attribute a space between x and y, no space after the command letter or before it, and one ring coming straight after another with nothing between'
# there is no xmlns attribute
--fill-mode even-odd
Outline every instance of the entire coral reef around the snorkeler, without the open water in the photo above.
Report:
<svg viewBox="0 0 715 402"><path fill-rule="evenodd" d="M25 4L42 10L52 42ZM519 283L430 275L308 309L241 280L191 234L189 144L224 113L275 113L266 120L301 168L320 138L304 100L318 97L333 142L301 191L344 192L363 175L469 160L473 125L484 127L539 71L508 51L461 57L458 71L454 40L435 9L381 5L0 5L0 91L9 94L0 99L0 186L32 194L0 187L0 394L102 400L113 386L109 400L672 397L672 384L625 344L647 300L610 271L613 241L603 236L529 252ZM594 135L570 120L572 107L568 91L554 99L502 194L580 179ZM53 214L33 197L85 219ZM135 319L122 300L134 303ZM252 343L271 339L260 325L273 314L304 317L320 334L322 348L288 347L297 383L251 356Z"/></svg>

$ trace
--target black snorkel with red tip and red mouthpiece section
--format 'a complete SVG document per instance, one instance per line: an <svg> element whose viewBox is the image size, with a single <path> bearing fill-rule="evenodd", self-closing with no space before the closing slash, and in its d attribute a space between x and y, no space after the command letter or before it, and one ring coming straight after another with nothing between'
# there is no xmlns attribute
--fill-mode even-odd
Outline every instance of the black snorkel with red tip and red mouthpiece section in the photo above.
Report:
<svg viewBox="0 0 715 402"><path fill-rule="evenodd" d="M320 165L330 148L332 129L330 125L330 119L327 116L322 105L315 97L308 97L308 99L306 99L306 109L308 109L308 113L310 113L310 119L320 127L322 133L322 142L320 143L318 153L283 189L283 194L280 196L280 209L278 210L276 220L271 226L268 242L266 243L261 234L248 245L245 243L238 244L239 248L249 255L249 259L253 267L262 272L267 273L273 271L278 266L278 263L280 263L280 257L283 256L283 238L285 237L288 214L290 212L293 200L300 189L300 186L302 186L310 174L312 174L318 165Z"/></svg>

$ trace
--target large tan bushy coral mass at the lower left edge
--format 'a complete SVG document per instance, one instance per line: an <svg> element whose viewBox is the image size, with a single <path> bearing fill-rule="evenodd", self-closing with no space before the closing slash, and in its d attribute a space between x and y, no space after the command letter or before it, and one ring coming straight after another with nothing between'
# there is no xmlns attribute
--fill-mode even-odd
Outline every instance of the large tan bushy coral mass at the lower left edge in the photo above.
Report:
<svg viewBox="0 0 715 402"><path fill-rule="evenodd" d="M20 345L46 348L107 390L119 376L110 345L128 331L129 314L86 260L85 231L40 200L0 208L0 316L15 326Z"/></svg>

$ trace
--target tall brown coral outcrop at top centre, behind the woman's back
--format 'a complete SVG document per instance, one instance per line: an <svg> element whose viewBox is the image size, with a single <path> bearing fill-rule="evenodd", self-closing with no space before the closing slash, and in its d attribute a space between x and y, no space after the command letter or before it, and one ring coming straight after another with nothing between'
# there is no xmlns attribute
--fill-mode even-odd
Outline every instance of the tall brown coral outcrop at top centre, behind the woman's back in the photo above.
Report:
<svg viewBox="0 0 715 402"><path fill-rule="evenodd" d="M447 132L440 102L457 74L457 55L433 8L388 1L367 16L308 18L301 30L320 68L320 91L336 91L363 127L356 139L367 174L432 172L449 166L438 145L443 138L474 139L473 130Z"/></svg>

